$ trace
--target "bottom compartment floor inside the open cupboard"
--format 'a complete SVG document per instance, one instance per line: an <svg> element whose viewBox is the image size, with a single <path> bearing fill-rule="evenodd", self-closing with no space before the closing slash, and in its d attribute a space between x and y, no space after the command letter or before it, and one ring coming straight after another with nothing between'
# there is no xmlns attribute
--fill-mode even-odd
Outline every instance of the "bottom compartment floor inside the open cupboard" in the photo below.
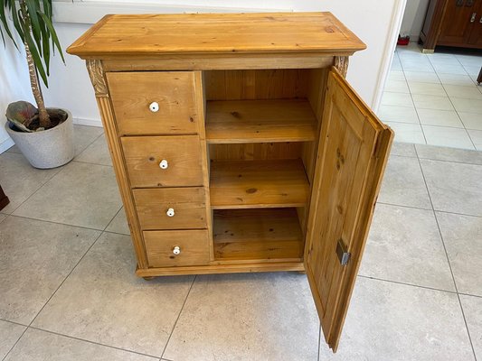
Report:
<svg viewBox="0 0 482 361"><path fill-rule="evenodd" d="M300 260L304 242L295 208L216 210L216 260Z"/></svg>

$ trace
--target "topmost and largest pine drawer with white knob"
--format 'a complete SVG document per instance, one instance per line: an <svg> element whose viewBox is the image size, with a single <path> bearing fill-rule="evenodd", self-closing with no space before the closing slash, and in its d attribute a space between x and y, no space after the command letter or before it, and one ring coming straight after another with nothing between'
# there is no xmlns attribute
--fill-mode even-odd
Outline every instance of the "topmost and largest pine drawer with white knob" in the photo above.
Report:
<svg viewBox="0 0 482 361"><path fill-rule="evenodd" d="M107 73L120 134L197 134L194 72Z"/></svg>

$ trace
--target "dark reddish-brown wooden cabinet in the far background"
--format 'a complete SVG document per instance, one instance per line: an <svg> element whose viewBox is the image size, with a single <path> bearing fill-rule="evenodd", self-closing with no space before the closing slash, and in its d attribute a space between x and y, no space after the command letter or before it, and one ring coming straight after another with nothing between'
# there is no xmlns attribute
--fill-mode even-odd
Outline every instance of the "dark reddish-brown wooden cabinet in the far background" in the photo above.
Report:
<svg viewBox="0 0 482 361"><path fill-rule="evenodd" d="M421 42L425 53L438 45L482 49L482 0L430 0Z"/></svg>

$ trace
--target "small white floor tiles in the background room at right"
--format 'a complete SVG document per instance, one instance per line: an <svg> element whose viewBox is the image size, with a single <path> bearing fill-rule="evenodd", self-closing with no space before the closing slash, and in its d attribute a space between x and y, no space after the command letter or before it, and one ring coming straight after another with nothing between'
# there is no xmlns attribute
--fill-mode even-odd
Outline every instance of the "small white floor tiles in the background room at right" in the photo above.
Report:
<svg viewBox="0 0 482 361"><path fill-rule="evenodd" d="M398 142L482 150L482 56L395 51L378 116Z"/></svg>

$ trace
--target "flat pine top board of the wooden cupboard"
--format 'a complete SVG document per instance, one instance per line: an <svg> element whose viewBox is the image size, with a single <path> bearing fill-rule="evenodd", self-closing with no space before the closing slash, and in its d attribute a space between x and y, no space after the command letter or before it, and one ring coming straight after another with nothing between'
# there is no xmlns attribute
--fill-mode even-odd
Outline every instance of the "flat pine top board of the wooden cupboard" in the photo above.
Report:
<svg viewBox="0 0 482 361"><path fill-rule="evenodd" d="M330 13L107 15L69 49L81 58L206 53L337 53L364 43Z"/></svg>

